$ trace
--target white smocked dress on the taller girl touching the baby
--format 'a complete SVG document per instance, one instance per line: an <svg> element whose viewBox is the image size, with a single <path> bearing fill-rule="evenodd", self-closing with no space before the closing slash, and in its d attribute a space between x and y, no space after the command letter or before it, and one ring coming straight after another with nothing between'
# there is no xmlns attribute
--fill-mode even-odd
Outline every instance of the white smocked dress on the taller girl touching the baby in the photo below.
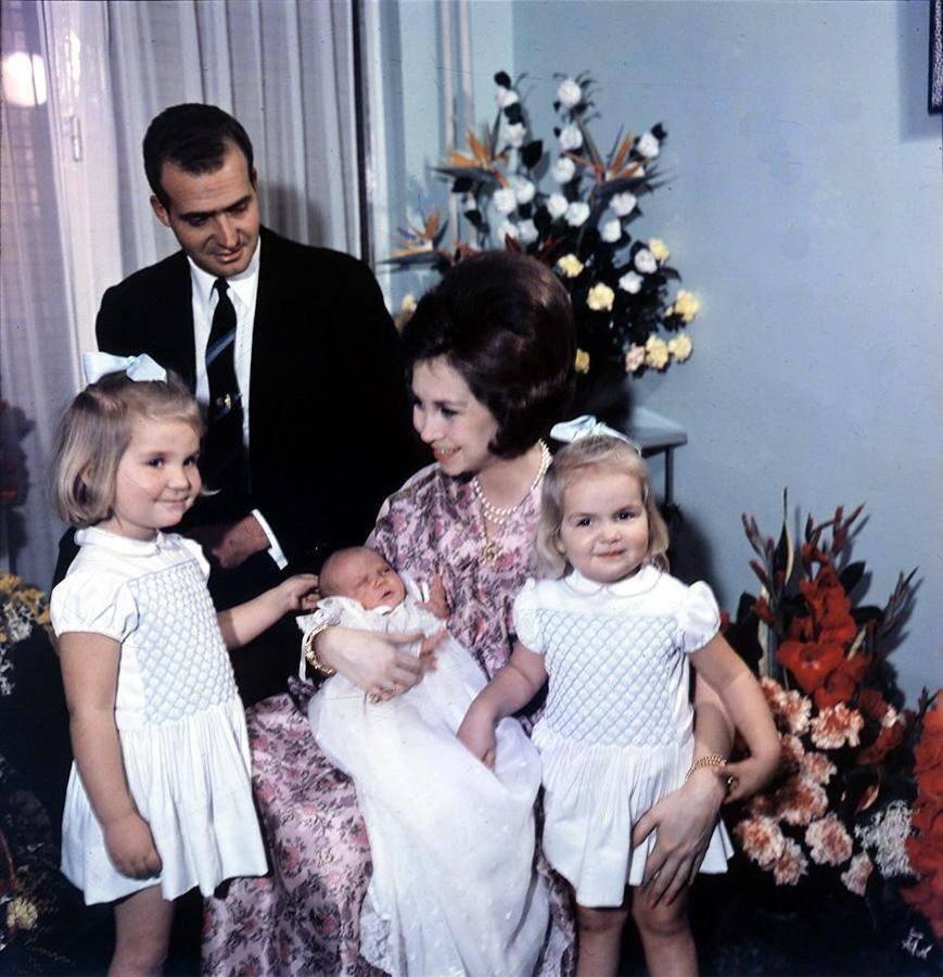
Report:
<svg viewBox="0 0 943 977"><path fill-rule="evenodd" d="M209 896L226 878L263 875L245 715L200 547L178 535L142 542L94 528L76 542L79 554L50 599L52 626L120 643L115 724L163 868L160 878L118 873L73 763L63 873L89 904L156 884L168 900L194 886Z"/></svg>

